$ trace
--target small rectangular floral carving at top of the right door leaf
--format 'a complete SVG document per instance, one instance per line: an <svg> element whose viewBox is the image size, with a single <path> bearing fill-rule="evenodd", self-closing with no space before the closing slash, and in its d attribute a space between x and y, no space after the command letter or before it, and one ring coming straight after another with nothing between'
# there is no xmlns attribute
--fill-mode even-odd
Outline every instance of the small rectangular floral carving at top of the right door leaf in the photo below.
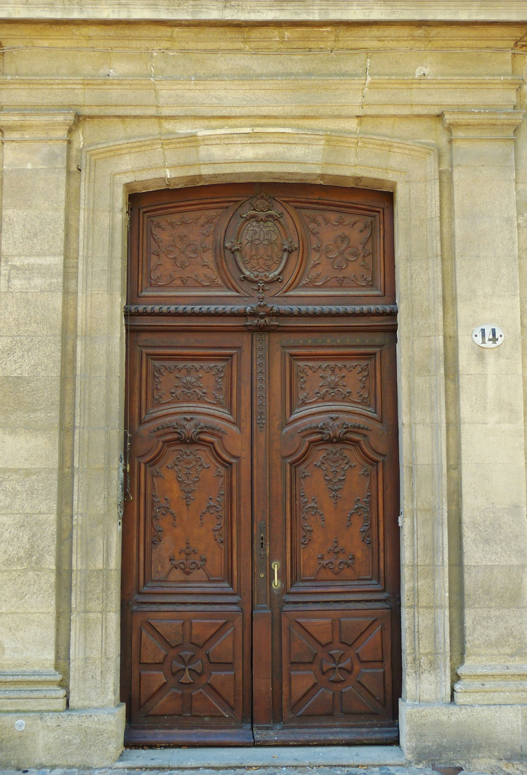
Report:
<svg viewBox="0 0 527 775"><path fill-rule="evenodd" d="M309 373L318 373L320 384L315 388L312 398L306 388ZM353 391L347 381L347 374L354 373L359 387ZM297 363L298 405L312 404L315 401L360 401L367 404L369 377L367 363Z"/></svg>

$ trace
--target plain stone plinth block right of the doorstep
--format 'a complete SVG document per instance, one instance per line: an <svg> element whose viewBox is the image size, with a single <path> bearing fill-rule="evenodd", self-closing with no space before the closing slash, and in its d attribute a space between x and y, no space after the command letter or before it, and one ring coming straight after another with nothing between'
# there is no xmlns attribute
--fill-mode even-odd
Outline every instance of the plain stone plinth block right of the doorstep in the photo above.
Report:
<svg viewBox="0 0 527 775"><path fill-rule="evenodd" d="M412 764L519 761L527 746L527 704L399 703L401 747Z"/></svg>

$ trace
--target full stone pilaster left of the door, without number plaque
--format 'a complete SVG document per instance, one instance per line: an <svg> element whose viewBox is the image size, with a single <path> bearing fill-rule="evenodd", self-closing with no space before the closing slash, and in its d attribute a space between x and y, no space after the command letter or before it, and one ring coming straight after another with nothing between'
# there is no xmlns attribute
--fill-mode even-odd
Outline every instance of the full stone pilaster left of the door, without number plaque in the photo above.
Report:
<svg viewBox="0 0 527 775"><path fill-rule="evenodd" d="M61 711L57 512L72 112L2 112L0 710Z"/></svg>

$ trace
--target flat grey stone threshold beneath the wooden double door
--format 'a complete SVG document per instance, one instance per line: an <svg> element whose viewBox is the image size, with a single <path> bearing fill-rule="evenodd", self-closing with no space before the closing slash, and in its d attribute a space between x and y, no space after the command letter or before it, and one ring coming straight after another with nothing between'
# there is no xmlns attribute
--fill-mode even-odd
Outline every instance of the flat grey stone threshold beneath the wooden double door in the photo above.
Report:
<svg viewBox="0 0 527 775"><path fill-rule="evenodd" d="M112 769L226 770L236 767L405 766L399 746L127 748Z"/></svg>

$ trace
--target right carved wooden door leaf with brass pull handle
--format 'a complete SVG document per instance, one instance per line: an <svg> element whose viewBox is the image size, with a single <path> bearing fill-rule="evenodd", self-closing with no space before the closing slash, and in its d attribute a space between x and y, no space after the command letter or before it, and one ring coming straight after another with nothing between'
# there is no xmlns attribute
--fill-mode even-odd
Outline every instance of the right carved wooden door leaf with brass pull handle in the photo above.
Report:
<svg viewBox="0 0 527 775"><path fill-rule="evenodd" d="M273 704L255 738L393 741L394 332L267 336L269 427L256 443L268 445Z"/></svg>

